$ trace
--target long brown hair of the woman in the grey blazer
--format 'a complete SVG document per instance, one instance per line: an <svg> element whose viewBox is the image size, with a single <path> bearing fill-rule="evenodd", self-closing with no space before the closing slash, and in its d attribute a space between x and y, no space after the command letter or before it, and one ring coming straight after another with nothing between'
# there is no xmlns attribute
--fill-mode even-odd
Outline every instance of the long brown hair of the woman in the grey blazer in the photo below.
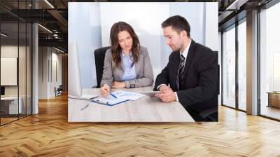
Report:
<svg viewBox="0 0 280 157"><path fill-rule="evenodd" d="M131 67L133 67L134 63L138 61L139 58L139 50L140 50L140 43L137 34L135 34L133 28L128 25L126 22L117 22L111 27L110 33L110 40L111 40L111 51L113 61L116 63L116 66L119 67L121 58L122 48L118 44L118 33L122 31L127 31L130 36L132 36L132 57L133 63Z"/></svg>

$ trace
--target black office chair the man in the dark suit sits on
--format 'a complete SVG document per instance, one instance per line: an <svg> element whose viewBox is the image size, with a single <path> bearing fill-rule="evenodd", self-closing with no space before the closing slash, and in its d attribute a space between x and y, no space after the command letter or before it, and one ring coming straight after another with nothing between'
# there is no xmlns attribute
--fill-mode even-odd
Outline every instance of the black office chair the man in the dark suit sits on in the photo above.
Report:
<svg viewBox="0 0 280 157"><path fill-rule="evenodd" d="M218 51L214 51L216 57L217 57L217 62L218 62ZM216 89L217 94L220 94L220 65L217 66L218 68L218 89ZM218 102L217 106L211 107L209 109L206 109L202 112L200 112L200 116L202 118L208 118L211 121L218 121Z"/></svg>

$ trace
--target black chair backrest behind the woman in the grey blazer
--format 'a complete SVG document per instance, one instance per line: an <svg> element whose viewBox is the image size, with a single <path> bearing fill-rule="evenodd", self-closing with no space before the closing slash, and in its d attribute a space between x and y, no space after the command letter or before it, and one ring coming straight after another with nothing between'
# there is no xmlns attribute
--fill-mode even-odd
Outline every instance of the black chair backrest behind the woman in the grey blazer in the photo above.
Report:
<svg viewBox="0 0 280 157"><path fill-rule="evenodd" d="M102 80L102 74L103 74L103 67L104 67L104 59L105 59L105 53L106 50L111 48L110 46L98 48L94 50L94 58L95 58L95 71L97 75L97 88L100 88L100 83Z"/></svg>

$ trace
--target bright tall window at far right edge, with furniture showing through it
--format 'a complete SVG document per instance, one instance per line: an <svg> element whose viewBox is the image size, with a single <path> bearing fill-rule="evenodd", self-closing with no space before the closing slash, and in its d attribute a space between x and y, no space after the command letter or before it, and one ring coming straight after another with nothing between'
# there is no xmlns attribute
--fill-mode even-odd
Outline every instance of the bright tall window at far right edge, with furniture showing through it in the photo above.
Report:
<svg viewBox="0 0 280 157"><path fill-rule="evenodd" d="M274 93L280 91L280 23L275 20L279 15L280 4L260 13L260 114L276 119L280 119L280 93ZM268 93L273 93L271 102Z"/></svg>

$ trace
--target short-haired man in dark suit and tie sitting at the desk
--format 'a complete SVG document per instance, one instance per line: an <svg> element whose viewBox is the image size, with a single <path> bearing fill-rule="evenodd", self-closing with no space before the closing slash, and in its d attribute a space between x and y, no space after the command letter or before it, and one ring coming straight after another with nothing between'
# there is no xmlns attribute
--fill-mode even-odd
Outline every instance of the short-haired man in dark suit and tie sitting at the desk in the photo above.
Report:
<svg viewBox="0 0 280 157"><path fill-rule="evenodd" d="M195 121L218 121L218 58L190 39L188 21L175 15L162 22L169 62L155 81L162 102L179 101ZM169 85L169 86L168 86Z"/></svg>

